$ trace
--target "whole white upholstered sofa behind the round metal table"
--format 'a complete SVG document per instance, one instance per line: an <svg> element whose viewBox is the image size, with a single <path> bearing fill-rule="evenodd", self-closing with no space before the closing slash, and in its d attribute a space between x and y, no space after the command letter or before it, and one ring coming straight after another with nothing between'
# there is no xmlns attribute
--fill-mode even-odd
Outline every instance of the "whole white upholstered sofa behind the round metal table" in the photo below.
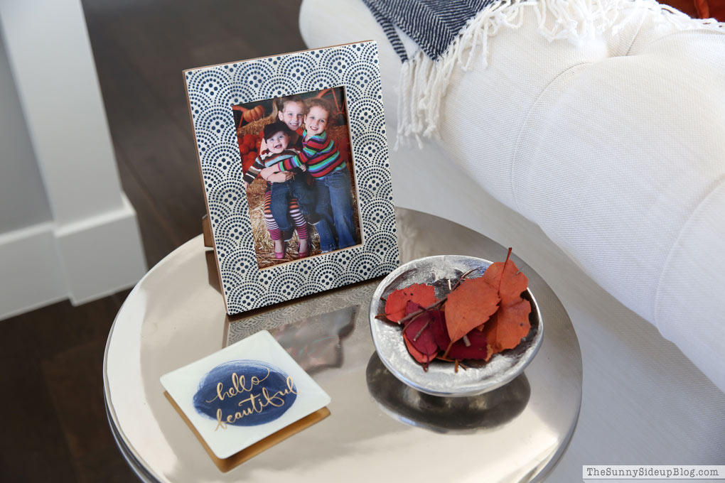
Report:
<svg viewBox="0 0 725 483"><path fill-rule="evenodd" d="M300 13L310 48L378 41L391 146L399 112L437 134L391 152L395 203L513 246L571 316L583 400L552 482L725 464L725 29L639 4L588 30L531 6L492 20L517 25L437 86L437 120L399 111L401 62L361 0Z"/></svg>

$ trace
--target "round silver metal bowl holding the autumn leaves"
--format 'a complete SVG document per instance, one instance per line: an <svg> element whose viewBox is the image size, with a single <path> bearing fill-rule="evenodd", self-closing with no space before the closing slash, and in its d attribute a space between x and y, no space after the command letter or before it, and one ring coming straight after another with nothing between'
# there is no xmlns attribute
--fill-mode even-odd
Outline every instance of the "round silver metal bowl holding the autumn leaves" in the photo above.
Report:
<svg viewBox="0 0 725 483"><path fill-rule="evenodd" d="M385 302L393 290L407 287L414 283L427 283L436 287L436 297L442 298L450 292L448 280L455 282L471 269L468 278L481 277L481 274L492 262L472 256L443 255L427 256L423 259L409 261L391 272L384 278L370 302L370 331L373 343L384 366L397 379L413 389L426 394L448 398L462 398L482 394L512 381L536 356L544 337L544 324L539 306L531 291L526 290L523 298L531 303L529 334L513 349L495 354L488 362L466 361L468 369L445 361L433 361L428 371L410 356L401 333L399 324L385 322L375 318L385 311ZM471 364L469 364L469 362Z"/></svg>

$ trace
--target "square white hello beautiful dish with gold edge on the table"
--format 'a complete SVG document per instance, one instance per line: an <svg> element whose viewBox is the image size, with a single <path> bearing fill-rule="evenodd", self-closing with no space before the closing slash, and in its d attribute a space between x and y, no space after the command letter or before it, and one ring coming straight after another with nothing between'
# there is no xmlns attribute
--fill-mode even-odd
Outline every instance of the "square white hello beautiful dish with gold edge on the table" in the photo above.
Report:
<svg viewBox="0 0 725 483"><path fill-rule="evenodd" d="M282 429L330 403L330 396L265 330L164 374L161 383L173 405L220 460L279 432L268 440L269 445L258 447L241 461L251 458L296 432ZM306 421L313 424L327 414L320 411ZM297 430L310 424L298 424Z"/></svg>

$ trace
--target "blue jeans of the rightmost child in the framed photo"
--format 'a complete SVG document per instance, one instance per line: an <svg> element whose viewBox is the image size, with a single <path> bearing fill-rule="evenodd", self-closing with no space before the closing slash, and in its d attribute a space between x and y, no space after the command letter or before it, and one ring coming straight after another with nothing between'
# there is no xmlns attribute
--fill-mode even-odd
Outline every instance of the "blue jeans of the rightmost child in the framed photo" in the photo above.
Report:
<svg viewBox="0 0 725 483"><path fill-rule="evenodd" d="M318 192L316 211L323 219L332 214L337 231L337 248L357 245L359 242L352 219L352 193L347 168L315 178L315 186Z"/></svg>

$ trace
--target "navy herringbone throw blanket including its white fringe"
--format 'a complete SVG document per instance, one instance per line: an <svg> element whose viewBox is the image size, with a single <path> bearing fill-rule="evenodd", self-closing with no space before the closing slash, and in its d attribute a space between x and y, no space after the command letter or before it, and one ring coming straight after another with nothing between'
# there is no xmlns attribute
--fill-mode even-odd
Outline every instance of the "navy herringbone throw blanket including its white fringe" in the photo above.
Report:
<svg viewBox="0 0 725 483"><path fill-rule="evenodd" d="M363 0L402 61L398 140L436 137L441 101L455 67L486 66L488 38L518 28L523 12L535 12L548 41L578 43L616 32L637 10L682 30L721 30L724 24L695 20L655 0ZM416 101L414 102L413 99Z"/></svg>

